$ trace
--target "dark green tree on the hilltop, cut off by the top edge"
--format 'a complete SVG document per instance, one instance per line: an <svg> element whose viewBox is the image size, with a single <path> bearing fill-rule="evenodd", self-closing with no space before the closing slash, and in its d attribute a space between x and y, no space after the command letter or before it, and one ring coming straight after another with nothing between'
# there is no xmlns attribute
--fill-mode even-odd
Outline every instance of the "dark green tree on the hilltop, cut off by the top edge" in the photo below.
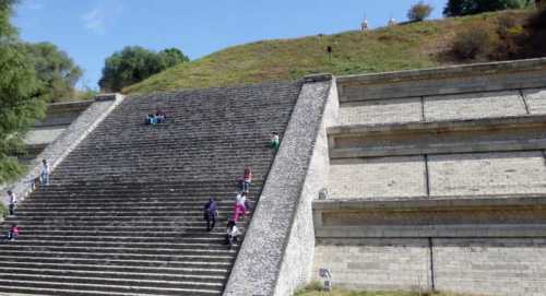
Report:
<svg viewBox="0 0 546 296"><path fill-rule="evenodd" d="M443 9L443 15L460 16L486 11L520 9L525 5L525 0L449 0Z"/></svg>

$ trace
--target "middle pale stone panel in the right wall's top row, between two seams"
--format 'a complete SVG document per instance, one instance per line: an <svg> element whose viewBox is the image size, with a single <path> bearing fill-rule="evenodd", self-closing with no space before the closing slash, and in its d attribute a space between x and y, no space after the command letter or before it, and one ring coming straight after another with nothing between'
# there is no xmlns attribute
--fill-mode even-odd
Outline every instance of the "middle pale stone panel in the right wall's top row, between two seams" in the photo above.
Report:
<svg viewBox="0 0 546 296"><path fill-rule="evenodd" d="M425 120L475 119L526 115L519 92L471 93L425 97Z"/></svg>

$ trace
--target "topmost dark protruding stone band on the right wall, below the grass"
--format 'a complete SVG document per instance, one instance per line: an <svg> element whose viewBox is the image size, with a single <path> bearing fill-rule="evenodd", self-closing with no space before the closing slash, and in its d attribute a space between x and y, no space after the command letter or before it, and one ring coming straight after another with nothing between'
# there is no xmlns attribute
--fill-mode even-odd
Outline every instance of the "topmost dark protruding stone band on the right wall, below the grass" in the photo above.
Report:
<svg viewBox="0 0 546 296"><path fill-rule="evenodd" d="M392 99L546 86L546 59L337 78L340 102Z"/></svg>

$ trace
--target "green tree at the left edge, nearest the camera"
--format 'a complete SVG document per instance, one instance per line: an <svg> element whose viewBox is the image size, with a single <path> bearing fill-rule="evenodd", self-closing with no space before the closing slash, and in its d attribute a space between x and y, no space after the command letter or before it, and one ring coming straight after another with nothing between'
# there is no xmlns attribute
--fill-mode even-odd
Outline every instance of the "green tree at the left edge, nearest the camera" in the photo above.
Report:
<svg viewBox="0 0 546 296"><path fill-rule="evenodd" d="M10 24L14 0L0 0L0 183L23 173L11 157L23 146L22 138L44 116L45 103L33 64Z"/></svg>

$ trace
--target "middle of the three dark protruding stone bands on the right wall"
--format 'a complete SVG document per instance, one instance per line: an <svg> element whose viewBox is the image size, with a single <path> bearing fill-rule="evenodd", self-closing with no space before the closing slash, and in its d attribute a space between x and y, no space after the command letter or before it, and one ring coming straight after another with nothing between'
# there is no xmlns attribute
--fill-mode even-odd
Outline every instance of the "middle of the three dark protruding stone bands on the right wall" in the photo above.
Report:
<svg viewBox="0 0 546 296"><path fill-rule="evenodd" d="M343 126L329 138L331 158L544 150L546 116Z"/></svg>

